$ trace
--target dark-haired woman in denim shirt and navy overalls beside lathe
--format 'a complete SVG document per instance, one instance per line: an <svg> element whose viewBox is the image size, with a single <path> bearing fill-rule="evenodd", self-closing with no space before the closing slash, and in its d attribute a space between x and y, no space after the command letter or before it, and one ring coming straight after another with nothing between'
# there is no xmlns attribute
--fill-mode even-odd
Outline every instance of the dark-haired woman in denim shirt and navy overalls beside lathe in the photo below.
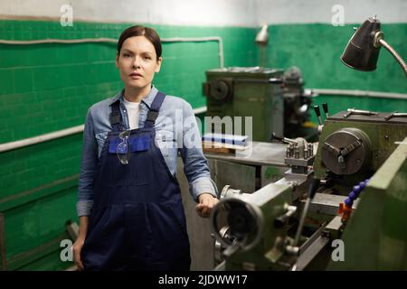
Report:
<svg viewBox="0 0 407 289"><path fill-rule="evenodd" d="M116 66L124 89L88 111L73 245L80 270L189 270L178 150L197 213L207 218L218 201L192 107L152 85L161 51L151 28L121 33Z"/></svg>

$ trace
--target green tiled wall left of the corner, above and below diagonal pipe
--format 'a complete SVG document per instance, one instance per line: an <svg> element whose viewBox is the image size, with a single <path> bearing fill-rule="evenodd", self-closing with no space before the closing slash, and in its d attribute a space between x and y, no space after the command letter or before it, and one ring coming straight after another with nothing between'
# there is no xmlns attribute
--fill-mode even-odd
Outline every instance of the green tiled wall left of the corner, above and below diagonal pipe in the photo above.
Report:
<svg viewBox="0 0 407 289"><path fill-rule="evenodd" d="M129 23L0 21L0 39L118 39ZM221 36L226 66L257 61L251 28L152 25L162 38ZM219 66L217 42L163 43L155 84L205 106L204 71ZM0 143L82 125L88 107L121 89L113 43L0 44ZM82 135L0 153L0 212L5 216L9 269L55 269L65 223L76 220ZM52 257L53 256L53 257ZM55 258L56 257L56 258ZM0 256L1 259L1 256Z"/></svg>

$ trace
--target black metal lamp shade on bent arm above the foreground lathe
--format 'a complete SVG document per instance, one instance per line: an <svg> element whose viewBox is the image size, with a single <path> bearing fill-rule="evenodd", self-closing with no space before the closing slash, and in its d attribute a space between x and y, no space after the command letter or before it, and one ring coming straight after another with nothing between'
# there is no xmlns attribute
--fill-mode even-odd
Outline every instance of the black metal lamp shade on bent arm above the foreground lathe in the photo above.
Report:
<svg viewBox="0 0 407 289"><path fill-rule="evenodd" d="M347 43L341 61L354 70L375 70L380 47L374 47L374 35L379 31L380 22L377 19L366 20Z"/></svg>

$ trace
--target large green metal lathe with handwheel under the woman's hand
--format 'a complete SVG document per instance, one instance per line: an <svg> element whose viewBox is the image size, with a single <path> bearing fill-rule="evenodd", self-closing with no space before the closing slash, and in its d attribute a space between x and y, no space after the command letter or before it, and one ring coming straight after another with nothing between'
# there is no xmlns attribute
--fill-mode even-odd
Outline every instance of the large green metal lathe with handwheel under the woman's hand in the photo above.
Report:
<svg viewBox="0 0 407 289"><path fill-rule="evenodd" d="M318 143L278 137L284 178L223 188L215 269L407 269L407 114L324 108Z"/></svg>

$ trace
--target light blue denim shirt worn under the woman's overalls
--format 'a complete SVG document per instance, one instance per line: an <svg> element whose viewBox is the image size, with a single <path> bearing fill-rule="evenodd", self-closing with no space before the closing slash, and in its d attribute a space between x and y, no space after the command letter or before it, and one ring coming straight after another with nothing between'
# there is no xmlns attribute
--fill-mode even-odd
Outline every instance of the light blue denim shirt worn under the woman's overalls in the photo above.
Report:
<svg viewBox="0 0 407 289"><path fill-rule="evenodd" d="M140 103L138 127L144 127L147 112L157 89L152 86L146 98ZM123 90L114 98L94 104L88 110L83 131L83 150L80 163L78 216L89 216L93 205L93 182L97 172L100 153L111 126L110 105L120 100L120 112L124 129L128 129L128 115L123 103ZM211 179L208 163L202 150L201 135L194 118L194 111L182 98L166 96L156 118L156 145L164 156L169 171L175 176L178 151L184 161L184 172L190 193L195 201L204 192L216 197L218 191Z"/></svg>

